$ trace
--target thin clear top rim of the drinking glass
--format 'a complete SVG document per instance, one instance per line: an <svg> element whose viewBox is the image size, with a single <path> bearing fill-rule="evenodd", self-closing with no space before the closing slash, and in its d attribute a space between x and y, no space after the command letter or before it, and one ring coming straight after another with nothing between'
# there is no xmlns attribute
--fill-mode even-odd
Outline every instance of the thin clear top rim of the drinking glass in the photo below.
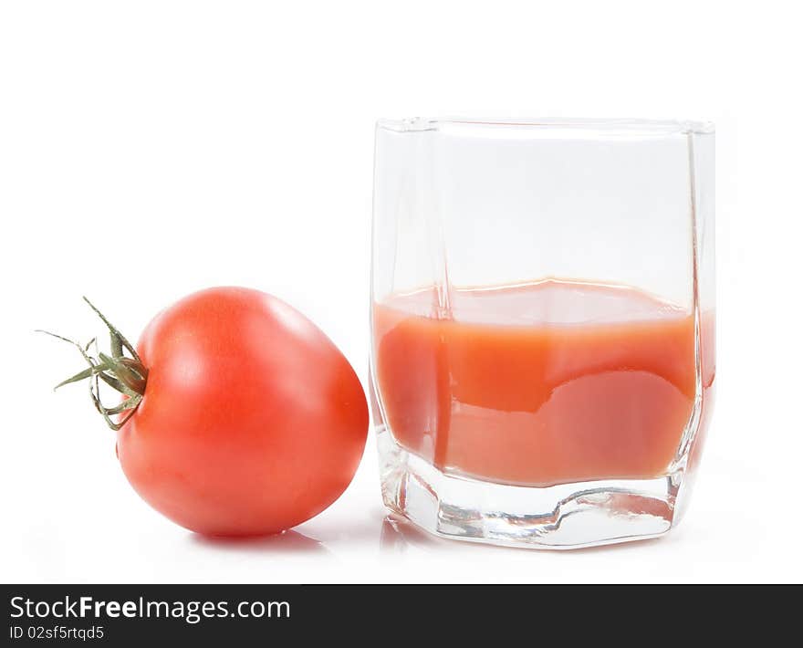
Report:
<svg viewBox="0 0 803 648"><path fill-rule="evenodd" d="M518 117L412 117L380 119L377 129L393 132L422 131L556 131L603 135L703 135L714 133L714 122L706 120L648 120L639 118L518 118Z"/></svg>

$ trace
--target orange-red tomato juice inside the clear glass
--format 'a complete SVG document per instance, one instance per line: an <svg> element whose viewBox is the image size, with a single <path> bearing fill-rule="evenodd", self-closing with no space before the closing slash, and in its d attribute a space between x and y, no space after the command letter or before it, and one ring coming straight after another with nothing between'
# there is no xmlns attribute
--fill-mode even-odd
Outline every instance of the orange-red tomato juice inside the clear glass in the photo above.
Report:
<svg viewBox="0 0 803 648"><path fill-rule="evenodd" d="M431 287L374 305L377 385L399 444L507 484L666 473L693 412L690 310L552 279L453 288L449 301L437 308Z"/></svg>

